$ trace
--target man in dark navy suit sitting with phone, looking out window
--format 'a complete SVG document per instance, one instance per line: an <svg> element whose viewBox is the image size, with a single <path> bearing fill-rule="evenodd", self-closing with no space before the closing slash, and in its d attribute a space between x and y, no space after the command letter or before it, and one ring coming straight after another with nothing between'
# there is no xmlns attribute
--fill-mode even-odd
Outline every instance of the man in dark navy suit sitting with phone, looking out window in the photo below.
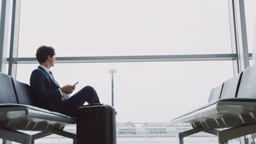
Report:
<svg viewBox="0 0 256 144"><path fill-rule="evenodd" d="M50 68L54 67L55 55L55 50L51 46L44 45L37 49L36 57L40 65L33 70L30 77L32 94L37 101L37 106L67 116L77 117L78 107L83 106L85 101L89 104L100 103L95 89L90 86L82 88L68 98L69 94L73 93L75 86L60 87L54 79Z"/></svg>

